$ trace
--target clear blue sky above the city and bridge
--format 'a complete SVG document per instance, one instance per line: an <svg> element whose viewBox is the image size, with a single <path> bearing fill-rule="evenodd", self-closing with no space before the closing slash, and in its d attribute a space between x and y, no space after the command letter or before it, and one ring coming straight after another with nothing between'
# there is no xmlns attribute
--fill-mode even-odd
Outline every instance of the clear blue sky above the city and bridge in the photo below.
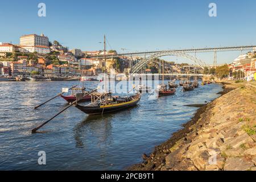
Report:
<svg viewBox="0 0 256 182"><path fill-rule="evenodd" d="M46 3L46 17L38 16L40 2ZM208 15L210 2L217 5L217 17ZM18 44L21 35L43 32L83 51L102 49L104 34L118 52L246 46L256 44L255 7L255 0L1 1L0 42ZM240 53L218 53L218 63ZM198 56L213 61L213 53Z"/></svg>

